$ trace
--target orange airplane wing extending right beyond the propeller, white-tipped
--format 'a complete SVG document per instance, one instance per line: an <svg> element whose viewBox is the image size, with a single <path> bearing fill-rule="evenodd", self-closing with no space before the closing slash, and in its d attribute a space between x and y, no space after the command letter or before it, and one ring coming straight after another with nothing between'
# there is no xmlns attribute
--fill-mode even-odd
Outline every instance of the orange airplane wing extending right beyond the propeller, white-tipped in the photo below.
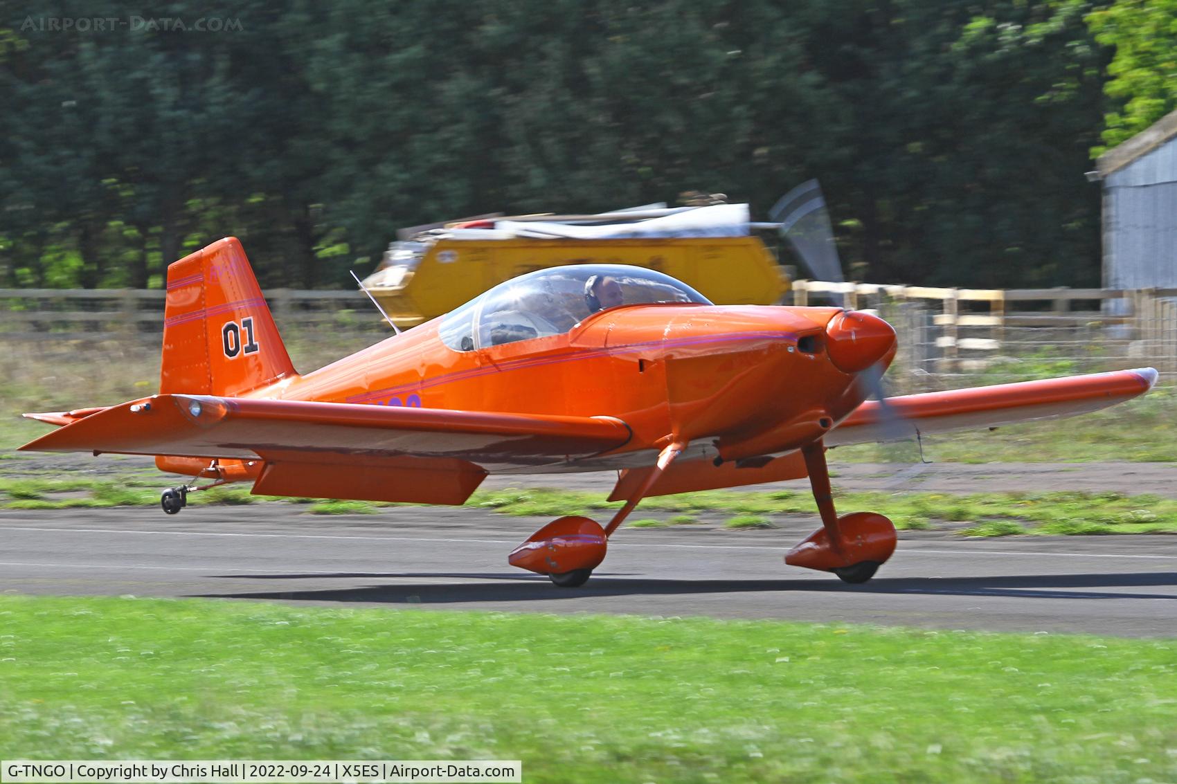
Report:
<svg viewBox="0 0 1177 784"><path fill-rule="evenodd" d="M867 400L825 437L827 446L916 438L949 430L997 427L1098 411L1152 388L1151 367L1069 376L887 398L895 416Z"/></svg>

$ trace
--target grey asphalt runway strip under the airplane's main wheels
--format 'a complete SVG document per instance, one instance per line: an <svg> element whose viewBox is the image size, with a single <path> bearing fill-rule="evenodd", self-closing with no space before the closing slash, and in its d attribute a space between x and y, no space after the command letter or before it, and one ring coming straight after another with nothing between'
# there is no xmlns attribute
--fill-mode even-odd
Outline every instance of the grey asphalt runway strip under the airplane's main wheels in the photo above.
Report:
<svg viewBox="0 0 1177 784"><path fill-rule="evenodd" d="M932 629L1177 636L1177 537L966 540L900 532L865 585L785 566L817 518L623 529L581 589L506 565L547 518L392 507L321 517L295 504L0 512L0 590L215 597L333 606L706 614ZM639 514L640 516L640 514Z"/></svg>

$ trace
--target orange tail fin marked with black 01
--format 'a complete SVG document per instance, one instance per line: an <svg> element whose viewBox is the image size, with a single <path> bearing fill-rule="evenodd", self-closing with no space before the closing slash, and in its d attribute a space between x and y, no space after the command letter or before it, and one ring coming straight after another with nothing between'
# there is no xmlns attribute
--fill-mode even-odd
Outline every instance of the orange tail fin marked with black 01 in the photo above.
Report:
<svg viewBox="0 0 1177 784"><path fill-rule="evenodd" d="M232 397L293 374L235 237L167 267L161 393Z"/></svg>

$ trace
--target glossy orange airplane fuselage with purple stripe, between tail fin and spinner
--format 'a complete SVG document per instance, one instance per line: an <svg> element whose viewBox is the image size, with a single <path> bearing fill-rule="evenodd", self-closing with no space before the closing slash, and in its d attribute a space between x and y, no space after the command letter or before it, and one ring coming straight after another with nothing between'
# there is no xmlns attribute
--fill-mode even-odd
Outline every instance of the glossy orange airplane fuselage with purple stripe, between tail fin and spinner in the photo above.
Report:
<svg viewBox="0 0 1177 784"><path fill-rule="evenodd" d="M746 458L820 438L862 403L855 376L825 351L826 325L840 312L633 305L566 333L471 351L446 346L434 320L251 396L609 416L633 432L618 452L676 434L719 439L725 458Z"/></svg>

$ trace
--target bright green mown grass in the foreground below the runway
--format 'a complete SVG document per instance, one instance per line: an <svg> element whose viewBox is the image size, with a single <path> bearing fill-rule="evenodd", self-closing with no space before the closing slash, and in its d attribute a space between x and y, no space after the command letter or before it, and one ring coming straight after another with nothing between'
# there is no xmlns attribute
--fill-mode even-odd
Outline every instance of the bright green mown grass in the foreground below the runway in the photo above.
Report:
<svg viewBox="0 0 1177 784"><path fill-rule="evenodd" d="M1177 778L1177 642L0 597L0 748L544 782Z"/></svg>

